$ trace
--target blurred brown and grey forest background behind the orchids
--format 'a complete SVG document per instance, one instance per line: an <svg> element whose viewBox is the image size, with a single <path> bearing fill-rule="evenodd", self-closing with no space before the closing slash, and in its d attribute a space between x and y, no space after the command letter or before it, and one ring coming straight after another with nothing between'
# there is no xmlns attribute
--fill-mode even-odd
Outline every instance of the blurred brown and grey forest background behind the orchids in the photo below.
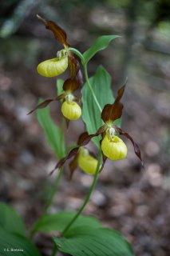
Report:
<svg viewBox="0 0 170 256"><path fill-rule="evenodd" d="M85 214L120 230L138 256L170 255L170 1L7 0L1 2L0 14L1 201L14 206L30 228L56 175L48 176L57 159L36 114L26 115L38 98L56 94L56 78L40 77L36 66L61 49L36 14L62 26L70 45L81 52L100 35L119 34L89 63L89 74L99 64L105 66L114 92L128 76L122 127L139 143L146 170L140 170L127 142L128 157L106 163ZM59 125L60 102L50 110ZM71 122L68 144L83 130L81 121ZM72 182L68 177L65 167L51 212L77 210L85 198L92 177L80 170ZM37 236L36 242L49 255L48 241Z"/></svg>

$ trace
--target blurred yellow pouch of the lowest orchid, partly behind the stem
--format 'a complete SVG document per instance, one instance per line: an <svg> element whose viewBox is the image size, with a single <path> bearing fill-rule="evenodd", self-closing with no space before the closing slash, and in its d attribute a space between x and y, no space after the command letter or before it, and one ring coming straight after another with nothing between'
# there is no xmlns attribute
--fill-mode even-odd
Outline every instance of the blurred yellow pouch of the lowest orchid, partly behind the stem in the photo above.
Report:
<svg viewBox="0 0 170 256"><path fill-rule="evenodd" d="M93 158L85 148L80 149L78 155L78 166L87 174L95 174L97 170L97 159Z"/></svg>

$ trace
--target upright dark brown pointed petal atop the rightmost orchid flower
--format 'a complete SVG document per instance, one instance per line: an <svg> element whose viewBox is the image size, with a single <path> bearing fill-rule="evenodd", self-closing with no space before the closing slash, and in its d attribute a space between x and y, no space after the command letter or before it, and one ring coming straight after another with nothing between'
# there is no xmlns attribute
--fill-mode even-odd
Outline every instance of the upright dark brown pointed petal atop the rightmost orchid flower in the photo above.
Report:
<svg viewBox="0 0 170 256"><path fill-rule="evenodd" d="M121 89L118 90L117 98L115 99L115 102L113 104L105 105L104 109L102 110L101 118L104 122L109 122L109 121L113 122L118 118L121 118L123 104L120 101L125 91L126 82L123 86L121 86Z"/></svg>

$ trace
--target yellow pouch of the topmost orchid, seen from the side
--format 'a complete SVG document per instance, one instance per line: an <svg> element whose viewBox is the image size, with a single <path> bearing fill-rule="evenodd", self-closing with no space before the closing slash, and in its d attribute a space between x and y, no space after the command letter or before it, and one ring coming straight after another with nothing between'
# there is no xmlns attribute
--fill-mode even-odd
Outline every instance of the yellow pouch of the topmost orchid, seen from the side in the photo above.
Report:
<svg viewBox="0 0 170 256"><path fill-rule="evenodd" d="M51 58L41 62L38 67L38 74L44 77L52 78L65 72L68 67L68 54L66 50L57 52L57 58Z"/></svg>

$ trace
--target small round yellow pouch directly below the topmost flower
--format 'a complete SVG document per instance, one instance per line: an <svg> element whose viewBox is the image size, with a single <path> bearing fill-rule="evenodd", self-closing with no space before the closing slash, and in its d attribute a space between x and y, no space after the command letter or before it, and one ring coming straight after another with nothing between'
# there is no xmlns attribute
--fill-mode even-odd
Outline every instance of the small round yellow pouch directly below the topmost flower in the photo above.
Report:
<svg viewBox="0 0 170 256"><path fill-rule="evenodd" d="M76 102L63 102L61 112L69 120L77 120L81 117L81 107Z"/></svg>

